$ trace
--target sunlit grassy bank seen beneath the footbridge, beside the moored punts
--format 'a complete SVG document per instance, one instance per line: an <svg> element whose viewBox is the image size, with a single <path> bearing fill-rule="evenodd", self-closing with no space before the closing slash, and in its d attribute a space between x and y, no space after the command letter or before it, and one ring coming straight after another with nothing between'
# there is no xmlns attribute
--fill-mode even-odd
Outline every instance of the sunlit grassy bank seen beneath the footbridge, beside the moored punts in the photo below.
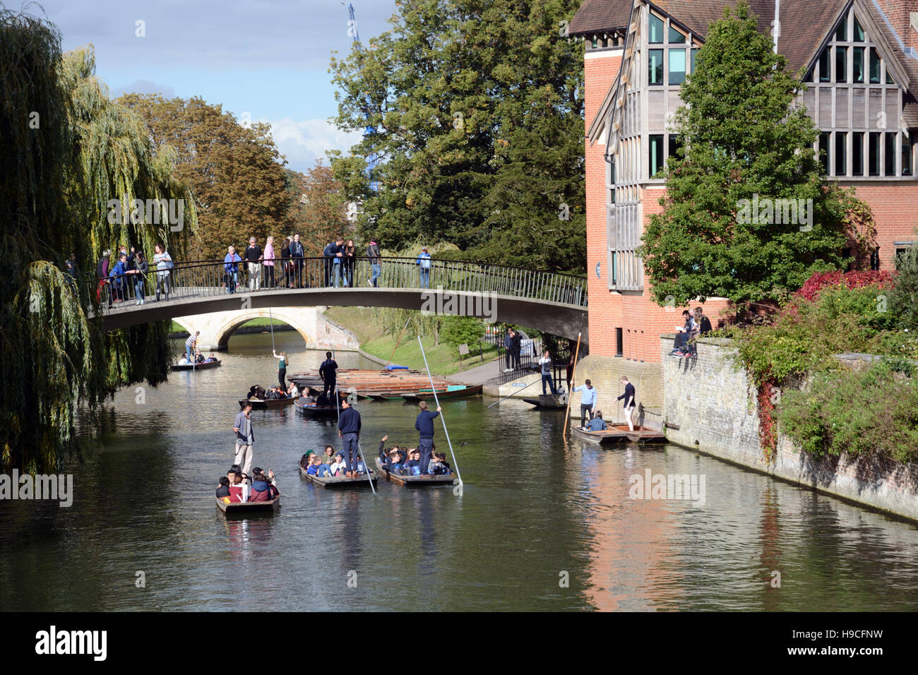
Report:
<svg viewBox="0 0 918 675"><path fill-rule="evenodd" d="M334 307L326 309L325 315L335 323L353 332L360 343L361 349L368 354L387 361L392 357L392 363L409 366L422 370L424 359L420 354L418 339L406 332L401 343L392 355L396 346L398 335L386 334L379 321L378 311L372 308L361 307ZM434 344L432 337L421 337L424 352L427 354L427 363L433 375L453 375L460 370L468 370L482 364L478 355L478 345L469 344L471 354L460 362L459 351L447 343ZM485 363L498 355L497 347L484 344ZM461 367L460 367L461 366Z"/></svg>

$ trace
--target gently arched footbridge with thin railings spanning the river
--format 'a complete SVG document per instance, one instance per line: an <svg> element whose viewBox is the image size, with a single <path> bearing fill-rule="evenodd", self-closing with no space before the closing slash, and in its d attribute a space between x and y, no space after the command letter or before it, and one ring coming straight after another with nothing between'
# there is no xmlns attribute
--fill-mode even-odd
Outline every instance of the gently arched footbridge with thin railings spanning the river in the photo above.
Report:
<svg viewBox="0 0 918 675"><path fill-rule="evenodd" d="M222 344L220 340L225 341L235 327L247 321L245 317L253 310L258 314L258 309L267 308L393 307L516 323L568 338L577 337L582 322L587 340L587 280L582 276L489 263L432 259L430 263L430 270L421 270L414 258L383 258L378 287L370 287L368 280L373 270L369 259L355 258L350 269L343 268L350 273L353 285L334 287L335 277L342 283L338 274L341 265L331 264L330 258L303 258L291 264L289 278L295 287L257 293L249 292L248 265L240 263L235 274L238 287L232 294L228 285L234 280L222 261L178 264L159 279L155 270L146 275L143 305L135 304L136 275L125 276L121 287L125 299L105 310L103 325L111 331L150 321L233 312L225 315L229 319L221 320L222 328L215 330L213 340L217 343L208 346L216 348ZM283 269L278 260L277 283L284 281ZM156 301L158 282L163 289L164 282L168 283L168 300L163 294L161 301ZM109 284L106 288L118 295L116 287ZM314 328L306 323L297 325L296 317L292 322L287 317L285 322L297 328L307 342L315 338ZM314 326L314 318L311 325Z"/></svg>

